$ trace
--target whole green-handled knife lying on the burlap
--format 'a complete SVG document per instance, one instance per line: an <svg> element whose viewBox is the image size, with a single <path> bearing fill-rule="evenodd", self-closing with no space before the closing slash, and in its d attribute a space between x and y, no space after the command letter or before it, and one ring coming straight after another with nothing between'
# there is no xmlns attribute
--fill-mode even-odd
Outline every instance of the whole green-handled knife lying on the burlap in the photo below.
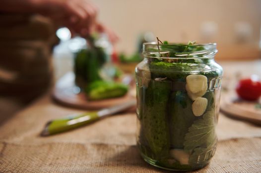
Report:
<svg viewBox="0 0 261 173"><path fill-rule="evenodd" d="M48 136L75 128L79 128L83 125L87 125L99 119L105 118L109 115L113 115L117 112L124 111L132 106L136 105L136 100L130 100L126 103L113 106L110 108L102 109L100 111L86 112L83 114L70 115L65 118L55 119L49 121L44 130L42 131L42 136Z"/></svg>

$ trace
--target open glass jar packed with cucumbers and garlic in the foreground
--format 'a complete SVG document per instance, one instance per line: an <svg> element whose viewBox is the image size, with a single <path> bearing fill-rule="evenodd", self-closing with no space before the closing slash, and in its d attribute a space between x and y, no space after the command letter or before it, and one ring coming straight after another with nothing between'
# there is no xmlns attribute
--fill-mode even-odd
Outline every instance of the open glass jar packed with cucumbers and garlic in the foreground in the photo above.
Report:
<svg viewBox="0 0 261 173"><path fill-rule="evenodd" d="M135 69L137 146L156 167L188 171L215 153L222 68L216 44L144 43Z"/></svg>

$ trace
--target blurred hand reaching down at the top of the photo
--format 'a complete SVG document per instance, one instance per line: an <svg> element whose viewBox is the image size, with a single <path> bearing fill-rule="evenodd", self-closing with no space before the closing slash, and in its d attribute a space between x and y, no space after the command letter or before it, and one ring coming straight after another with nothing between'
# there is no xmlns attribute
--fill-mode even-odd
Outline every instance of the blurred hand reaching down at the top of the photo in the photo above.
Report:
<svg viewBox="0 0 261 173"><path fill-rule="evenodd" d="M36 0L38 13L72 33L89 35L96 28L98 8L89 0Z"/></svg>

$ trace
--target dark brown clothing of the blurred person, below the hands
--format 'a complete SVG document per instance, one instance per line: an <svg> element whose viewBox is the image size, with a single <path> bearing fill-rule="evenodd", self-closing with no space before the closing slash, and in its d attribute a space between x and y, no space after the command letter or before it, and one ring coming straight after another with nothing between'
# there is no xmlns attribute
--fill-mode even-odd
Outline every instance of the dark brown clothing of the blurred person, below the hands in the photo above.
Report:
<svg viewBox="0 0 261 173"><path fill-rule="evenodd" d="M57 42L47 18L0 14L0 96L28 102L48 90Z"/></svg>

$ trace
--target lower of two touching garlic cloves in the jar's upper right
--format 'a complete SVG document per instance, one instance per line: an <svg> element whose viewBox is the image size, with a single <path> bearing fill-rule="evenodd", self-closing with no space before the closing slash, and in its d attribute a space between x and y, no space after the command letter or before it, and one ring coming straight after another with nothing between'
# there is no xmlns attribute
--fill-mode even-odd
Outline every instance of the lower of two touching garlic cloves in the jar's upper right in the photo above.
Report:
<svg viewBox="0 0 261 173"><path fill-rule="evenodd" d="M207 99L203 97L198 97L192 103L192 111L196 117L199 117L204 114L206 111Z"/></svg>

